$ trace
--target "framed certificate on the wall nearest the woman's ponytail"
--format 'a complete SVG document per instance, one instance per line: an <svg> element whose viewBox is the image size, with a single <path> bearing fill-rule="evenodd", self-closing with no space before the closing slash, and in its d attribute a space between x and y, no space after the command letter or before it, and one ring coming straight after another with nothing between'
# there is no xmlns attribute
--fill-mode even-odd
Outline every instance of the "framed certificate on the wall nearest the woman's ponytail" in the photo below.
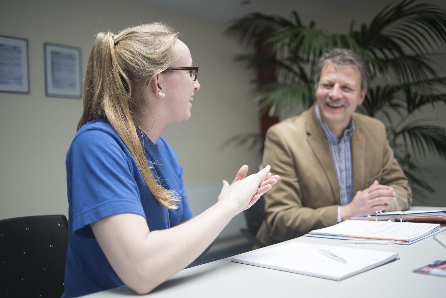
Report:
<svg viewBox="0 0 446 298"><path fill-rule="evenodd" d="M82 97L81 48L45 42L45 95Z"/></svg>

